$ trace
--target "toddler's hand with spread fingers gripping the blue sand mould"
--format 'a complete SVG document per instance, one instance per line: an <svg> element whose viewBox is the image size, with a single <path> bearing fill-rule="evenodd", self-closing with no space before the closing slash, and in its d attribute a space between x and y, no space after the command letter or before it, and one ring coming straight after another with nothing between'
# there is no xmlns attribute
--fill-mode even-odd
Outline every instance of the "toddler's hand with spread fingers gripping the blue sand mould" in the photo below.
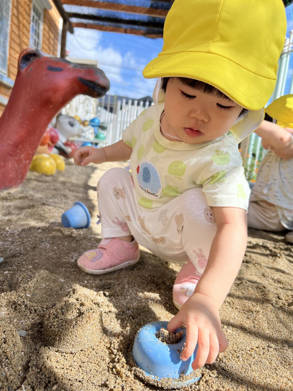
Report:
<svg viewBox="0 0 293 391"><path fill-rule="evenodd" d="M219 352L224 352L228 342L222 332L221 320L216 302L209 296L194 293L168 323L169 332L186 325L186 346L180 355L186 361L198 343L197 356L192 368L198 369L206 362L215 361Z"/></svg>

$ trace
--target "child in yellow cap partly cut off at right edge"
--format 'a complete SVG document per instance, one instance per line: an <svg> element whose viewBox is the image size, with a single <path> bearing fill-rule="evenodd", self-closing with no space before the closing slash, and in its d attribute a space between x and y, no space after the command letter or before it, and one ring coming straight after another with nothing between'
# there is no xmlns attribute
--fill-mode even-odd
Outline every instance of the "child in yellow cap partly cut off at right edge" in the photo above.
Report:
<svg viewBox="0 0 293 391"><path fill-rule="evenodd" d="M279 97L265 111L268 120L255 133L262 137L268 152L250 195L248 227L293 230L293 95ZM273 118L276 123L270 122ZM293 242L292 232L286 235L286 240Z"/></svg>

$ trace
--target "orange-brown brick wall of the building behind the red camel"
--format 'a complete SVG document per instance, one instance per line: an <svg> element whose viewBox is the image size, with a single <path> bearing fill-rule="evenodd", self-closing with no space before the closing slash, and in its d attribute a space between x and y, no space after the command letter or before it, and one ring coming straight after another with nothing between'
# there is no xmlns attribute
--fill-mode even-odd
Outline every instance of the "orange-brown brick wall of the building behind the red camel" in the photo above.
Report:
<svg viewBox="0 0 293 391"><path fill-rule="evenodd" d="M49 0L52 9L44 10L43 41L41 50L53 56L58 56L59 13L53 2ZM8 52L7 76L15 80L17 74L18 56L30 44L30 16L32 0L13 0L11 2L11 22ZM11 90L0 84L0 95L9 98ZM5 106L0 104L0 115Z"/></svg>

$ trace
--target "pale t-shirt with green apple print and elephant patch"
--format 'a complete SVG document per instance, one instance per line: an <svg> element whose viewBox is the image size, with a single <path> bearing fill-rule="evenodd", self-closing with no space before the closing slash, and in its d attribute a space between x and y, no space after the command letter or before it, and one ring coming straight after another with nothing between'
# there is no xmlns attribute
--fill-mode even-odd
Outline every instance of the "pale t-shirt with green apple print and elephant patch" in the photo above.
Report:
<svg viewBox="0 0 293 391"><path fill-rule="evenodd" d="M164 104L159 104L159 117ZM143 111L123 132L132 148L130 167L136 199L154 209L195 187L209 206L247 210L250 189L232 133L200 144L167 140L161 135L156 106Z"/></svg>

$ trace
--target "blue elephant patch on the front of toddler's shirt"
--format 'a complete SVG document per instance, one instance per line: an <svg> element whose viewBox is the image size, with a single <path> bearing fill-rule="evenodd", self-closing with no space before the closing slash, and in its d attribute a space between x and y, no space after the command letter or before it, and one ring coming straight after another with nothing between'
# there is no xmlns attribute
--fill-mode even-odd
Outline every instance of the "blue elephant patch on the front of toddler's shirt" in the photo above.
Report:
<svg viewBox="0 0 293 391"><path fill-rule="evenodd" d="M163 188L161 176L154 163L144 160L136 168L138 185L149 197L159 198Z"/></svg>

